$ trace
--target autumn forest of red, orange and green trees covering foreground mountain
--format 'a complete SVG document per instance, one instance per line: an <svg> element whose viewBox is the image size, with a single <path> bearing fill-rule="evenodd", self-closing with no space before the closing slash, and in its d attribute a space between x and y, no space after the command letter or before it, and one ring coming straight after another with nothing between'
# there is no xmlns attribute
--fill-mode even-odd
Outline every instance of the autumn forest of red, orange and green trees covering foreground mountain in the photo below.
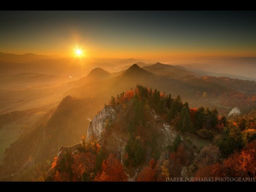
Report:
<svg viewBox="0 0 256 192"><path fill-rule="evenodd" d="M255 116L227 120L216 109L189 108L180 96L137 85L111 96L118 112L102 133L105 143L81 139L52 163L55 181L165 181L166 177L255 177ZM155 112L155 118L149 115ZM250 115L255 115L255 111ZM151 119L150 119L151 118ZM175 139L159 150L148 121L168 123ZM111 148L111 134L125 138L123 155ZM196 139L195 139L196 138ZM204 141L197 145L196 140ZM150 152L148 151L150 148ZM236 166L235 166L236 165ZM131 176L131 173L136 172ZM208 175L209 173L209 175Z"/></svg>

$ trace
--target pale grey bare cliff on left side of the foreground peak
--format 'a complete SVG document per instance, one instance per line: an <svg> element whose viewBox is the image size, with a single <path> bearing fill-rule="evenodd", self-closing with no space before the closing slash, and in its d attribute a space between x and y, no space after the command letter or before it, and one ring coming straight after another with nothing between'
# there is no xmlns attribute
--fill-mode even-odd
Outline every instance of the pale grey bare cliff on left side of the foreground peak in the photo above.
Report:
<svg viewBox="0 0 256 192"><path fill-rule="evenodd" d="M86 141L97 141L100 138L102 131L105 128L107 123L113 122L116 118L115 109L106 105L102 111L100 111L96 116L94 116L93 121L90 122L90 125L87 130Z"/></svg>

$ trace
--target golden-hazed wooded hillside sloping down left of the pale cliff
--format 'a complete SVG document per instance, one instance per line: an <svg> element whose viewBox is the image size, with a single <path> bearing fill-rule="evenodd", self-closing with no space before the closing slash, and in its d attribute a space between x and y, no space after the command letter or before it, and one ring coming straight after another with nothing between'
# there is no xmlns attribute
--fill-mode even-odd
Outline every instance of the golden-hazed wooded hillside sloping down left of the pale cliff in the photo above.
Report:
<svg viewBox="0 0 256 192"><path fill-rule="evenodd" d="M49 111L38 120L31 131L6 149L0 177L26 169L27 172L24 173L29 174L29 168L38 163L44 163L49 169L50 163L47 160L51 160L62 145L78 143L86 135L90 119L103 105L96 98L65 97L55 111Z"/></svg>

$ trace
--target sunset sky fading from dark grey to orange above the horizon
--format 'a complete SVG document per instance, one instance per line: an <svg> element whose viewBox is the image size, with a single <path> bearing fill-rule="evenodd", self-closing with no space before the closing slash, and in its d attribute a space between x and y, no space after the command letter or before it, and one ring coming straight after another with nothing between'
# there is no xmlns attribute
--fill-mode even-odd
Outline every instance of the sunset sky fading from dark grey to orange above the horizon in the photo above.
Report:
<svg viewBox="0 0 256 192"><path fill-rule="evenodd" d="M255 12L1 11L0 52L171 61L255 56Z"/></svg>

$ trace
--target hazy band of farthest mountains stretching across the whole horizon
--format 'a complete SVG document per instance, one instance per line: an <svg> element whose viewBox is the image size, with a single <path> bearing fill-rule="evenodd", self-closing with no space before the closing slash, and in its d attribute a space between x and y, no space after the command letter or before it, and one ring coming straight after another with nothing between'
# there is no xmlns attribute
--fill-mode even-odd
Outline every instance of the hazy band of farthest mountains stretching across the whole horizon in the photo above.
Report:
<svg viewBox="0 0 256 192"><path fill-rule="evenodd" d="M118 73L127 70L132 64L139 67L145 67L151 73L165 75L177 78L183 75L193 75L196 77L227 76L230 78L256 80L256 57L239 57L239 58L189 58L182 61L175 61L175 66L164 66L155 64L152 61L141 59L116 59L116 58L63 58L58 55L36 55L26 53L16 55L0 52L0 72L2 74L17 73L44 73L49 75L72 76L79 79L86 76L96 67ZM151 66L151 67L150 67ZM170 67L172 66L172 67ZM185 67L185 68L184 68ZM163 71L163 68L164 71ZM185 71L183 71L185 70ZM190 72L188 72L190 71ZM164 74L162 74L164 72Z"/></svg>

